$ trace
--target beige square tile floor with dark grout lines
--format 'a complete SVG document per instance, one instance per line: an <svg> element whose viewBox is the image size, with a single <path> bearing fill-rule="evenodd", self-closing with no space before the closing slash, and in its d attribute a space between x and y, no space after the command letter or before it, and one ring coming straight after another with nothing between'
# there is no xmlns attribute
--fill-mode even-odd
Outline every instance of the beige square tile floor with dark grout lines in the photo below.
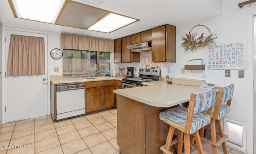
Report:
<svg viewBox="0 0 256 154"><path fill-rule="evenodd" d="M42 116L2 124L0 146L0 154L118 154L116 109L60 122ZM209 144L203 148L212 154ZM228 151L243 154L232 148ZM223 154L221 148L218 154Z"/></svg>

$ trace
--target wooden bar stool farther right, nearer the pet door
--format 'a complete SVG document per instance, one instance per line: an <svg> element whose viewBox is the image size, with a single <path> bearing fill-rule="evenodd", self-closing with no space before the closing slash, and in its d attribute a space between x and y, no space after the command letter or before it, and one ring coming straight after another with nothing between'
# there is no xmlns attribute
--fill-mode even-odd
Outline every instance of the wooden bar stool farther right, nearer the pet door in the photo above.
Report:
<svg viewBox="0 0 256 154"><path fill-rule="evenodd" d="M227 135L223 133L223 128L220 119L224 117L230 111L231 100L234 92L234 84L230 84L229 86L219 88L217 93L216 104L214 104L212 110L212 118L210 122L210 129L203 127L200 130L201 140L212 145L212 154L218 154L218 146L222 144L223 153L228 154L228 148L226 145ZM206 113L206 111L204 111ZM216 132L215 128L215 120L217 123L218 131ZM204 130L208 130L211 132L211 140L207 140L204 137ZM217 141L216 134L220 135L220 139Z"/></svg>

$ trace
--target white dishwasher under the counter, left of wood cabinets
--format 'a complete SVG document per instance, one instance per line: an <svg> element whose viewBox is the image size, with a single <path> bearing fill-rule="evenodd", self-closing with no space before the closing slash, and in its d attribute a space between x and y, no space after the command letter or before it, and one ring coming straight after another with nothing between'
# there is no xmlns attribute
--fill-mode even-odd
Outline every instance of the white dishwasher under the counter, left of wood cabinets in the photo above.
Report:
<svg viewBox="0 0 256 154"><path fill-rule="evenodd" d="M56 121L84 114L84 83L57 84Z"/></svg>

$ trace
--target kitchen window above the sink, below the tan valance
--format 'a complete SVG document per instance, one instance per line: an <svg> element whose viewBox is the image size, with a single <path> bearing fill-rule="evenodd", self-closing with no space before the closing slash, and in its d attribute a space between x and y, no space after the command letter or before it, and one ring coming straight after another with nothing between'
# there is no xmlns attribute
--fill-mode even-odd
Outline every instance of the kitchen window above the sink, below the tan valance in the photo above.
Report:
<svg viewBox="0 0 256 154"><path fill-rule="evenodd" d="M110 70L110 52L63 49L63 78L102 76Z"/></svg>

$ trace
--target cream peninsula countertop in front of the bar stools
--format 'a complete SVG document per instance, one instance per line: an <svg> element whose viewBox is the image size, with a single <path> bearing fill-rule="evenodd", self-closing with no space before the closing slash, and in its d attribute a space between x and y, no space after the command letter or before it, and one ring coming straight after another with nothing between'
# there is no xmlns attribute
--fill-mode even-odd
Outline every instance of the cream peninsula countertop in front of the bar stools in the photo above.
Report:
<svg viewBox="0 0 256 154"><path fill-rule="evenodd" d="M114 90L114 93L156 106L170 107L189 101L191 93L203 93L209 90L199 86L167 84L165 81L143 82L148 86Z"/></svg>

